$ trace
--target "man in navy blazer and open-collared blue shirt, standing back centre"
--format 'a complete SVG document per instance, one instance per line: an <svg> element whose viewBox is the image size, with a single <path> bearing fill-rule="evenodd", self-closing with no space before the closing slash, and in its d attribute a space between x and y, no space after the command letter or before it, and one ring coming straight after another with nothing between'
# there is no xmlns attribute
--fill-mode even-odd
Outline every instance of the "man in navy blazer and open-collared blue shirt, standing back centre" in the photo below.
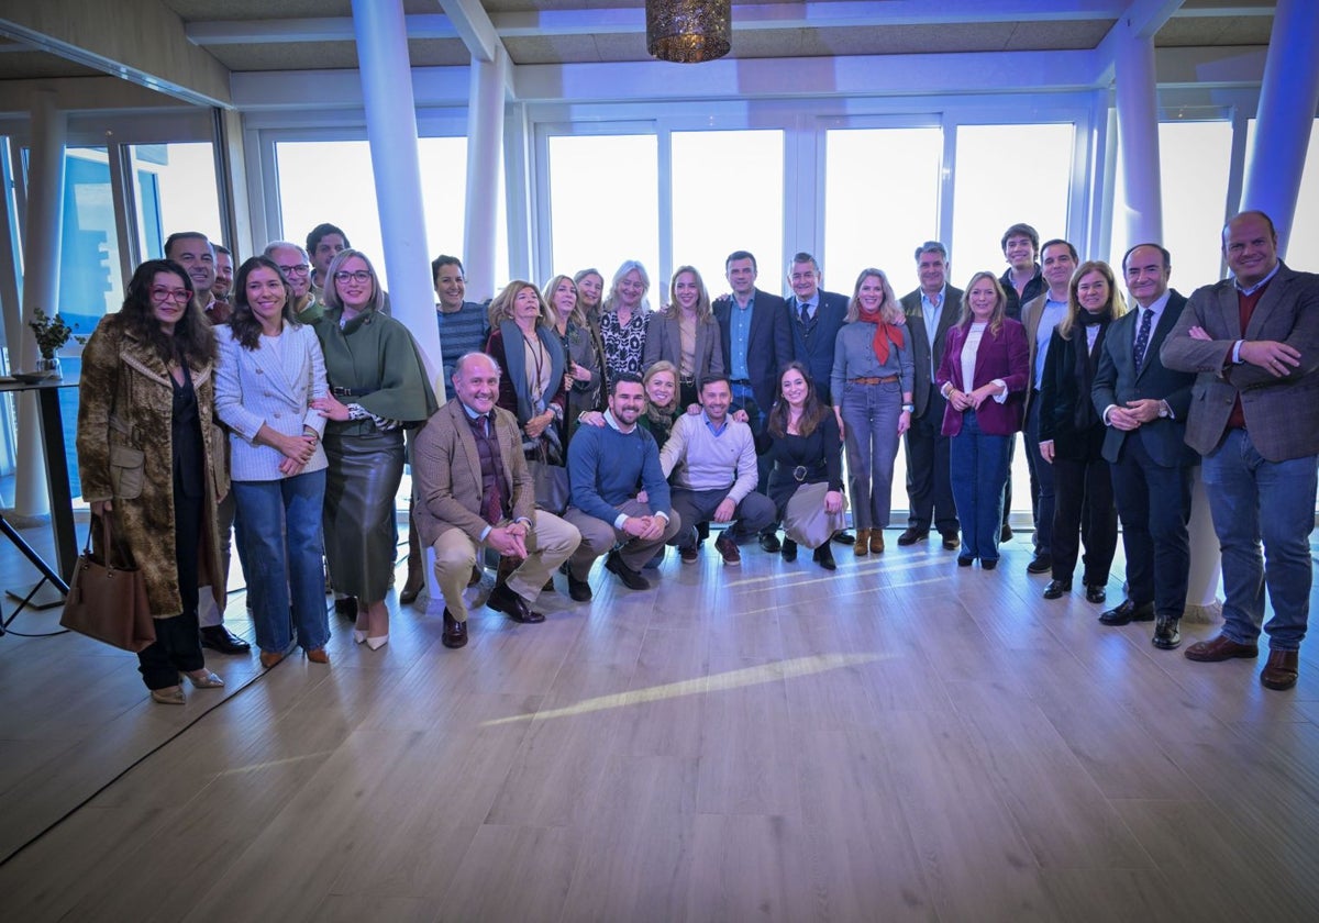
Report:
<svg viewBox="0 0 1319 923"><path fill-rule="evenodd" d="M765 418L778 396L778 372L793 360L793 332L787 327L783 299L756 287L756 257L748 251L735 251L724 260L724 276L732 295L716 298L715 320L719 322L724 371L733 393L732 413L745 414L753 435L765 429ZM741 419L740 417L737 417ZM769 489L769 456L758 459L760 483L756 491ZM776 526L761 533L760 546L774 554L780 550Z"/></svg>

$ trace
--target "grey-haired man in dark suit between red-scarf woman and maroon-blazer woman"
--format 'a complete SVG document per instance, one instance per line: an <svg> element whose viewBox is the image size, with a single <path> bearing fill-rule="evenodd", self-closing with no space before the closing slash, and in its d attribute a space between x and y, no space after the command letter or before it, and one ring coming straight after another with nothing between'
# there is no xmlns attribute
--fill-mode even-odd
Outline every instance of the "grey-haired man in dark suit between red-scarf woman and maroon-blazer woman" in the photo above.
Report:
<svg viewBox="0 0 1319 923"><path fill-rule="evenodd" d="M948 327L962 313L962 289L948 285L948 251L938 240L915 248L921 287L902 295L915 384L911 389L911 429L906 431L907 527L898 545L915 545L930 535L930 522L943 537L943 547L956 551L958 508L952 502L948 467L948 436L943 435L943 411L948 402L934 386L934 373L943 361Z"/></svg>

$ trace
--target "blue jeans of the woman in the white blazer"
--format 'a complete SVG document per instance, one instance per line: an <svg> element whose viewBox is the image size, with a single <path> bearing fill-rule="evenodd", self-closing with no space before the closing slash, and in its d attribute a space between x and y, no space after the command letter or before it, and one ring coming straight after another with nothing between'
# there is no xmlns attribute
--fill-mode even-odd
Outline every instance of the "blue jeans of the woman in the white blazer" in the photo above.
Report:
<svg viewBox="0 0 1319 923"><path fill-rule="evenodd" d="M303 650L324 647L330 640L321 568L324 493L324 469L278 481L233 481L233 497L243 521L239 534L252 567L247 579L256 643L266 653L289 650L291 628L297 629L298 646Z"/></svg>

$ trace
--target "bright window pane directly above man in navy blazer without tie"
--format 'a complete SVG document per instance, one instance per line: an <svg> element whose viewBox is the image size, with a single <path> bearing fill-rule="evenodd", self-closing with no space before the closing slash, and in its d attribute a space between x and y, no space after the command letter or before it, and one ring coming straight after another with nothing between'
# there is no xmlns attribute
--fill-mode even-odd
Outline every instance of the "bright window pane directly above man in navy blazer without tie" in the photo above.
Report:
<svg viewBox="0 0 1319 923"><path fill-rule="evenodd" d="M756 256L758 283L782 290L783 133L674 132L673 264L700 270L711 298L728 290L724 261L733 251ZM667 280L656 280L666 298Z"/></svg>

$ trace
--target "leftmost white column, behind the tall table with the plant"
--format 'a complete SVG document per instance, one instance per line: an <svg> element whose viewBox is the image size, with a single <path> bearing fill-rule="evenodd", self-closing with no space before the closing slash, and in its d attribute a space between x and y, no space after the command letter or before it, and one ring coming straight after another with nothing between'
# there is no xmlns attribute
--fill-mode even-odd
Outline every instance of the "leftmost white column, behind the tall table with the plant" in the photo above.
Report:
<svg viewBox="0 0 1319 923"><path fill-rule="evenodd" d="M36 367L37 340L28 327L33 311L46 316L59 310L59 244L63 233L65 142L67 113L55 108L53 92L38 94L32 109L32 150L28 156L28 215L24 240L22 340L16 368ZM13 340L11 340L13 343ZM13 357L11 357L13 363ZM30 523L50 513L46 469L37 421L37 398L18 398L18 444L13 485L15 525Z"/></svg>

